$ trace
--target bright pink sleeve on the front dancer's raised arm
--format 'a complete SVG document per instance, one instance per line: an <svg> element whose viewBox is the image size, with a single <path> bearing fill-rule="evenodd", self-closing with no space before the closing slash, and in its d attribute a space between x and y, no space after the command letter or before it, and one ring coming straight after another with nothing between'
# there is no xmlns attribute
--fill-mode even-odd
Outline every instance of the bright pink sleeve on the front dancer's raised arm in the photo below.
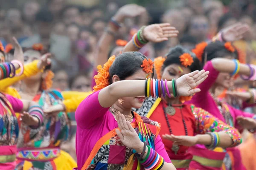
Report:
<svg viewBox="0 0 256 170"><path fill-rule="evenodd" d="M76 109L75 118L76 123L83 129L89 129L97 122L103 120L103 116L107 113L109 108L102 108L99 104L99 92L89 95L84 99Z"/></svg>

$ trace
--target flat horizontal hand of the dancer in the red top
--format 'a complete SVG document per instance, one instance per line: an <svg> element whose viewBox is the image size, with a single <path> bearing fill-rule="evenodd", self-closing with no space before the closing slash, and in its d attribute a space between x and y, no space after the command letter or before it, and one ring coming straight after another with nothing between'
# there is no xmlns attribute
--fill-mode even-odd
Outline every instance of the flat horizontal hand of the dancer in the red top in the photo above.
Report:
<svg viewBox="0 0 256 170"><path fill-rule="evenodd" d="M198 142L197 136L175 136L175 135L163 135L164 139L170 140L174 145L182 146L194 146Z"/></svg>

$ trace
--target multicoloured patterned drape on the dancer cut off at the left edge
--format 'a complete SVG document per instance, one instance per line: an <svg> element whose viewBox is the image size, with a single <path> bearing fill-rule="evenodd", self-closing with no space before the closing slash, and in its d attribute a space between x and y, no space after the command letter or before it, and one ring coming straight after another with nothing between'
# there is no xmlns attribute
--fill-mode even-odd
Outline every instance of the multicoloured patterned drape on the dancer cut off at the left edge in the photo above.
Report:
<svg viewBox="0 0 256 170"><path fill-rule="evenodd" d="M0 145L15 145L19 135L17 117L11 103L0 93Z"/></svg>

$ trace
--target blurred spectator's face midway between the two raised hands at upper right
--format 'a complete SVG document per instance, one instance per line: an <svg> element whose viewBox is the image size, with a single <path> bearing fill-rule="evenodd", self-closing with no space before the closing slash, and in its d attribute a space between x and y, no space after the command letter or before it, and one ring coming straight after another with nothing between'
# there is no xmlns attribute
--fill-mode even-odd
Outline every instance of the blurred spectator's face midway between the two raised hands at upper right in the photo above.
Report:
<svg viewBox="0 0 256 170"><path fill-rule="evenodd" d="M207 17L204 15L197 15L192 17L189 25L189 35L196 38L197 42L206 41L209 31L209 24Z"/></svg>

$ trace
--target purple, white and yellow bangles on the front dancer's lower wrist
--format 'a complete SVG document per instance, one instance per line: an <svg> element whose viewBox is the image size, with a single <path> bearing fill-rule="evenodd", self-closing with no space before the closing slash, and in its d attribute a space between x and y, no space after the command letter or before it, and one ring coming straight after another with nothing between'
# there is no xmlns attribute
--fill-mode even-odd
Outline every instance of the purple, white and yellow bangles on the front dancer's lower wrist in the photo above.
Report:
<svg viewBox="0 0 256 170"><path fill-rule="evenodd" d="M164 159L155 150L148 146L148 153L145 159L139 159L145 170L160 170L163 167Z"/></svg>

